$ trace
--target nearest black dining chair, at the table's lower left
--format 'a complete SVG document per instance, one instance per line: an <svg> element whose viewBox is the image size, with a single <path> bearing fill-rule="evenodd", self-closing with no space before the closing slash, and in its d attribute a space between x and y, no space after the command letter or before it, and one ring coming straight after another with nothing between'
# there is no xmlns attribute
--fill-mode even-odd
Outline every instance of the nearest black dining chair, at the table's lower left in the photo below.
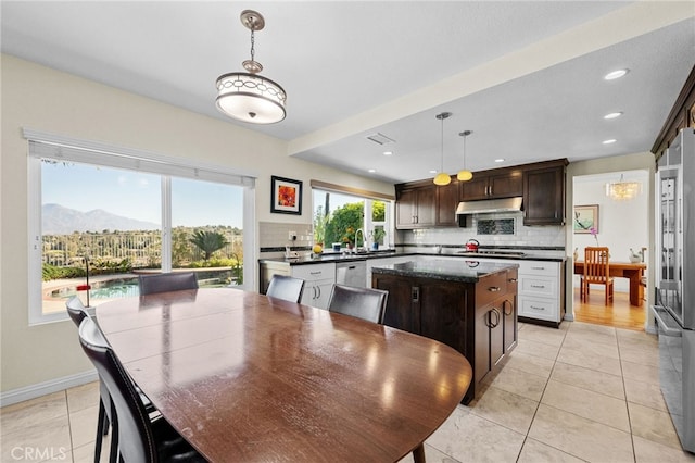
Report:
<svg viewBox="0 0 695 463"><path fill-rule="evenodd" d="M205 462L163 416L149 416L135 384L90 317L79 325L79 342L109 390L121 462Z"/></svg>

